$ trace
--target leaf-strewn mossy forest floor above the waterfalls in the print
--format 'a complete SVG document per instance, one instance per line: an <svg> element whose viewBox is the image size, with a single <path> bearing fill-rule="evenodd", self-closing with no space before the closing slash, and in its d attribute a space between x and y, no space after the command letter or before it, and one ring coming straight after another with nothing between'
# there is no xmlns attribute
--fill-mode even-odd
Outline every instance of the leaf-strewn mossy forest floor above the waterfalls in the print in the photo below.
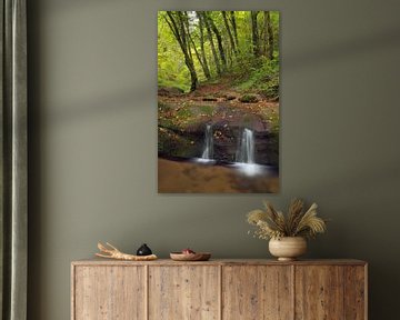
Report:
<svg viewBox="0 0 400 320"><path fill-rule="evenodd" d="M248 101L249 100L249 101ZM199 124L227 121L237 126L257 118L254 130L279 130L279 102L254 92L239 92L232 80L206 83L190 93L159 90L159 126L182 131L196 131ZM254 121L252 121L254 122Z"/></svg>

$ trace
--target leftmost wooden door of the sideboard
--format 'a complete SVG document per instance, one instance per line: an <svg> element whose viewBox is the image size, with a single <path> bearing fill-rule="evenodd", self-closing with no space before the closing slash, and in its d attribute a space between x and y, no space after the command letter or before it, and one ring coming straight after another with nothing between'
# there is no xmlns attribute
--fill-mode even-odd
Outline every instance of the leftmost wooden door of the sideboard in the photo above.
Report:
<svg viewBox="0 0 400 320"><path fill-rule="evenodd" d="M73 320L146 319L144 267L76 266Z"/></svg>

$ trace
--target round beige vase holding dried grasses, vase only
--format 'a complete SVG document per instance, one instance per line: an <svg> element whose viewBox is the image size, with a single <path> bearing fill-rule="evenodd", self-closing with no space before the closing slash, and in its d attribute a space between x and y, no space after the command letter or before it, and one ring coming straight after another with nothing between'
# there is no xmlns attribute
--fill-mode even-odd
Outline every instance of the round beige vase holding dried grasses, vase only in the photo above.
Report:
<svg viewBox="0 0 400 320"><path fill-rule="evenodd" d="M302 237L271 239L269 250L279 261L292 261L306 253L307 241Z"/></svg>

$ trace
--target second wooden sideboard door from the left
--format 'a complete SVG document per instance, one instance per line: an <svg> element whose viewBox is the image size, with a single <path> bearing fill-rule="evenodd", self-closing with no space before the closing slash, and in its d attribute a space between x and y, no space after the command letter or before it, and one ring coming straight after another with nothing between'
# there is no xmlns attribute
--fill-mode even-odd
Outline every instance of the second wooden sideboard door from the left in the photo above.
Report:
<svg viewBox="0 0 400 320"><path fill-rule="evenodd" d="M149 267L150 320L219 319L219 267Z"/></svg>

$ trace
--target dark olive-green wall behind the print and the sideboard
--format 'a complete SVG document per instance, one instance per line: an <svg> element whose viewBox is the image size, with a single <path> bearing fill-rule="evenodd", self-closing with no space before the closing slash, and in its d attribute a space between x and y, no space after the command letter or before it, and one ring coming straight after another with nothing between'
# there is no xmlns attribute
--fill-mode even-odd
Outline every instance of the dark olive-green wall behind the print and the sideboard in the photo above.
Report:
<svg viewBox="0 0 400 320"><path fill-rule="evenodd" d="M157 194L157 10L281 11L281 192ZM69 319L69 264L98 240L161 257L268 257L244 213L267 198L332 219L310 258L370 263L370 319L398 319L400 2L29 3L29 316Z"/></svg>

